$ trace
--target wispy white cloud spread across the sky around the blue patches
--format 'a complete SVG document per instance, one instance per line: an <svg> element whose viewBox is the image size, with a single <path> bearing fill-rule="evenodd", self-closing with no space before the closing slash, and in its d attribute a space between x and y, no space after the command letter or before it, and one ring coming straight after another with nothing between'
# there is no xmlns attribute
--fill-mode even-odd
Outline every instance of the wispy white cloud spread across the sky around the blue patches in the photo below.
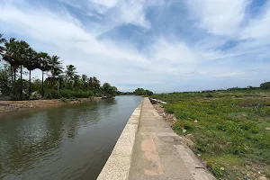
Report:
<svg viewBox="0 0 270 180"><path fill-rule="evenodd" d="M192 0L188 3L192 12L200 7L198 12L193 12L193 16L200 20L200 28L211 32L211 35L201 37L191 45L172 37L172 34L154 34L156 39L144 47L142 53L132 43L116 39L100 40L98 37L125 23L152 31L151 20L146 18L147 9L149 6L165 4L164 1L80 0L76 4L70 4L68 0L61 1L73 8L86 8L89 14L98 12L100 18L104 16L109 20L81 22L68 11L54 11L45 6L36 8L28 4L29 1L22 0L21 5L9 1L0 3L0 23L4 24L0 25L0 31L23 37L33 48L60 56L64 65L74 64L78 72L98 76L103 82L118 85L122 91L132 91L138 86L157 92L202 90L202 87L208 89L209 85L214 87L211 81L217 83L226 79L224 85L229 87L232 80L235 84L238 82L243 85L243 79L246 79L245 82L248 79L249 83L252 79L260 81L269 76L265 71L263 76L258 75L270 64L258 66L256 63L243 62L270 55L266 50L266 45L270 43L267 8L256 19L250 20L247 26L240 27L247 1L220 0L217 3ZM86 4L94 6L91 9ZM231 39L248 40L239 42L234 48L219 48ZM251 67L257 67L257 70L248 73ZM37 71L36 75L40 76L40 72Z"/></svg>

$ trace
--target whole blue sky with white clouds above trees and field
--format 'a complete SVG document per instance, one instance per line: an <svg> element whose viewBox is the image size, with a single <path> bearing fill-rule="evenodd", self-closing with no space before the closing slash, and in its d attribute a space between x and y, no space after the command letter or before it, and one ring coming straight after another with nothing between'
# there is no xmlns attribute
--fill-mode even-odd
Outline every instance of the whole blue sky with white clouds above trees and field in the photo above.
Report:
<svg viewBox="0 0 270 180"><path fill-rule="evenodd" d="M121 91L270 81L267 0L0 0L0 14L5 38Z"/></svg>

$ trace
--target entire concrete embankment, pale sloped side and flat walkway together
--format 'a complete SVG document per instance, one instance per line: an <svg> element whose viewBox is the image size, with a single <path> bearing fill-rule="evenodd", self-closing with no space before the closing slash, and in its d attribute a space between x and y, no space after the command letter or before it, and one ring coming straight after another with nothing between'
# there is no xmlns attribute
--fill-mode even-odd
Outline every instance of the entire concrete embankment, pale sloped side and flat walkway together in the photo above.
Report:
<svg viewBox="0 0 270 180"><path fill-rule="evenodd" d="M215 178L145 98L131 115L97 179Z"/></svg>

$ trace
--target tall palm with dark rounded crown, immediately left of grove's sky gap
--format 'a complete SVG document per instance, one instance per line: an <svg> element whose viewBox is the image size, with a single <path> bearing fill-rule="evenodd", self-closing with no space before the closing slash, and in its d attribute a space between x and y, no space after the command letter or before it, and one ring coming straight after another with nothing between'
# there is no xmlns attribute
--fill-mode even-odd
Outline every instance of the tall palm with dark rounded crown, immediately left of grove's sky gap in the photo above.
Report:
<svg viewBox="0 0 270 180"><path fill-rule="evenodd" d="M24 67L26 67L27 70L29 70L29 92L28 92L29 99L31 96L31 71L40 67L39 60L40 59L39 59L38 53L34 51L33 49L29 49L28 58L24 64Z"/></svg>

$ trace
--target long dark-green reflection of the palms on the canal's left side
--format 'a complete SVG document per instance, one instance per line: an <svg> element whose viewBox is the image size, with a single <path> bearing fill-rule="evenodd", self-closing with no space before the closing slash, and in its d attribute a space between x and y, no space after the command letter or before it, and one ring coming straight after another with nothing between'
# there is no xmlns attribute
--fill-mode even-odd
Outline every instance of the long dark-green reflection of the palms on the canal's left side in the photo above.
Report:
<svg viewBox="0 0 270 180"><path fill-rule="evenodd" d="M40 161L53 160L52 158L58 156L58 149L62 148L65 140L75 139L80 128L89 127L110 117L119 105L117 99L108 99L6 117L3 126L0 126L0 139L4 139L4 143L1 141L0 144L0 164L3 171L0 172L0 179L3 175L23 175L23 172L37 166ZM121 105L126 105L126 102ZM42 130L38 139L25 136L25 131L29 130L27 125L39 121L42 121ZM39 131L36 130L36 133ZM43 166L44 163L42 162Z"/></svg>

